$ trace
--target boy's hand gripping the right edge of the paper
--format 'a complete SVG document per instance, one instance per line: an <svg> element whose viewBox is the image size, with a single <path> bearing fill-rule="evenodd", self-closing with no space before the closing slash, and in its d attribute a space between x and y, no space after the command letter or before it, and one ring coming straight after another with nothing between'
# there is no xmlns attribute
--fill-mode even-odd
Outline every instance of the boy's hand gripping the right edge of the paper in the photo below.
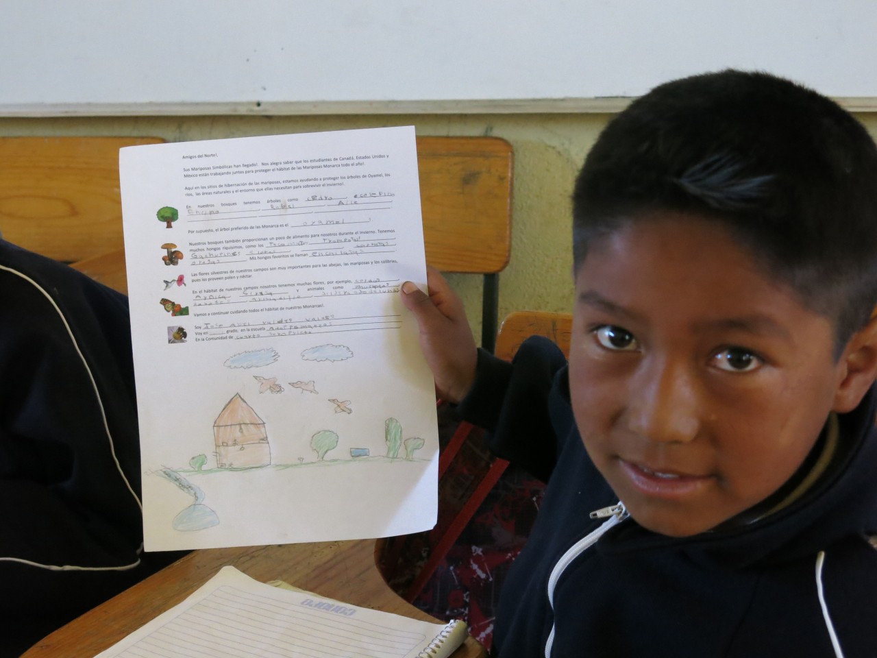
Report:
<svg viewBox="0 0 877 658"><path fill-rule="evenodd" d="M402 284L402 301L414 313L420 329L420 347L436 382L436 393L447 402L458 403L472 388L475 341L460 297L448 286L439 270L426 269L427 297L414 283Z"/></svg>

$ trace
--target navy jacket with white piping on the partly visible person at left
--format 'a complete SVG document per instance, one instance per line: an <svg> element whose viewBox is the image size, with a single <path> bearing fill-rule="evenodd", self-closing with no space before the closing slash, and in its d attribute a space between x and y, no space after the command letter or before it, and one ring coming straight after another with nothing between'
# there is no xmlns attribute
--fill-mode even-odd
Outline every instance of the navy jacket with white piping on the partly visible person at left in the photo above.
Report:
<svg viewBox="0 0 877 658"><path fill-rule="evenodd" d="M141 554L127 298L0 240L0 656L178 554Z"/></svg>

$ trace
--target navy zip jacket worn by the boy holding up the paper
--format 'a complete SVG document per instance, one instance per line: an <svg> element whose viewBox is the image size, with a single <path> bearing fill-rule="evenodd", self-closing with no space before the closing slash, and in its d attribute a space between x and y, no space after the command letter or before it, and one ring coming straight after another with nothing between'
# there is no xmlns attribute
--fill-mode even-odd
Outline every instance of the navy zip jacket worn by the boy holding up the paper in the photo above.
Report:
<svg viewBox="0 0 877 658"><path fill-rule="evenodd" d="M838 417L835 458L803 497L754 523L674 539L624 512L589 518L618 500L582 445L553 343L524 342L513 365L481 353L461 415L491 431L497 454L547 481L501 594L496 654L546 655L551 638L550 655L564 658L840 655L836 645L846 658L877 656L874 402L872 390ZM589 533L550 604L555 565Z"/></svg>

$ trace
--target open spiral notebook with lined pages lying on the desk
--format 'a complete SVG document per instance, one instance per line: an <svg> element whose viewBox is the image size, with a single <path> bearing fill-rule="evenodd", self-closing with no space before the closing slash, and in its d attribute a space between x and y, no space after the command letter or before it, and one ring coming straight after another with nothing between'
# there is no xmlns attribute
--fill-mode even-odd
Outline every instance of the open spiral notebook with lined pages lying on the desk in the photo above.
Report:
<svg viewBox="0 0 877 658"><path fill-rule="evenodd" d="M410 619L220 569L189 598L96 658L443 658L466 625Z"/></svg>

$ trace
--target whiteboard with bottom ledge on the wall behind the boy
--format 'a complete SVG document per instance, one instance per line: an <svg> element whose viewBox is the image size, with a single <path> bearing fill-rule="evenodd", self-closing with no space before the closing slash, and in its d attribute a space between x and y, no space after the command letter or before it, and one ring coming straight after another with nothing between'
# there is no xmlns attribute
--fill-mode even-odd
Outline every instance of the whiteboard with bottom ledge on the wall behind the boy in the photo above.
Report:
<svg viewBox="0 0 877 658"><path fill-rule="evenodd" d="M727 67L877 109L875 35L873 0L7 0L0 116L600 111Z"/></svg>

